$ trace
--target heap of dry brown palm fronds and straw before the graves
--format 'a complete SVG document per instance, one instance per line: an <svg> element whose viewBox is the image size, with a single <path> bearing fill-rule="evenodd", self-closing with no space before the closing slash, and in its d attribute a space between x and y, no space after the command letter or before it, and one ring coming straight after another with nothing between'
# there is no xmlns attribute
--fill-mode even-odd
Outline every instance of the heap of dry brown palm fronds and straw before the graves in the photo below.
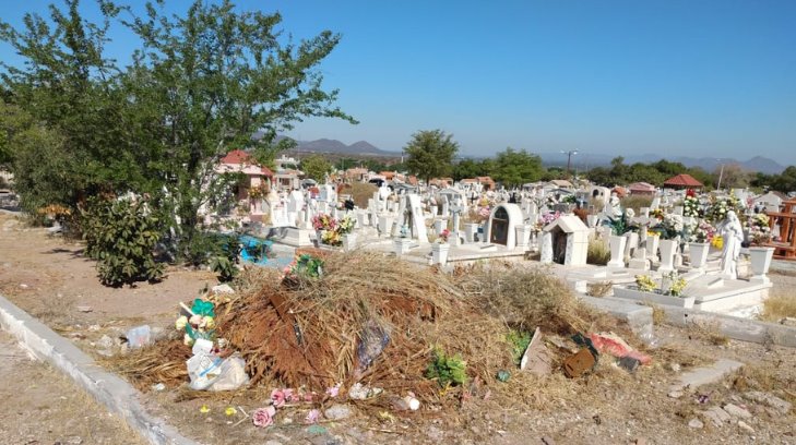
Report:
<svg viewBox="0 0 796 445"><path fill-rule="evenodd" d="M451 276L378 253L323 256L318 278L285 281L277 270L249 269L236 297L216 308L218 336L240 351L252 385L322 394L335 383L361 382L440 402L455 396L424 376L435 350L461 354L468 381L488 386L498 371L515 368L510 329L630 335L544 268L497 263ZM178 386L189 356L177 340L159 341L115 359L115 368L139 387Z"/></svg>

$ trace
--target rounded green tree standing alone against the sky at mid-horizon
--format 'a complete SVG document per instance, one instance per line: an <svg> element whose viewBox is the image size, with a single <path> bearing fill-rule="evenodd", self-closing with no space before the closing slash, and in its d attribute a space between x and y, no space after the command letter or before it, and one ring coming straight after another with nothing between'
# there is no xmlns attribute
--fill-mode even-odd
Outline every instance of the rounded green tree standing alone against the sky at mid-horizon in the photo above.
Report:
<svg viewBox="0 0 796 445"><path fill-rule="evenodd" d="M441 130L418 131L404 147L409 155L406 167L409 172L426 180L450 175L453 157L459 153L459 144L452 134Z"/></svg>

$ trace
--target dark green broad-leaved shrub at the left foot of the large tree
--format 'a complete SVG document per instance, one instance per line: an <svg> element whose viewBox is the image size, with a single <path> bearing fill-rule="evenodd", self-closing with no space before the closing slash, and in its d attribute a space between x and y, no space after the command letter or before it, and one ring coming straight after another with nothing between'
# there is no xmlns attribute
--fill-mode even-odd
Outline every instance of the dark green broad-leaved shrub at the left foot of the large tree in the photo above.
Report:
<svg viewBox="0 0 796 445"><path fill-rule="evenodd" d="M85 253L97 261L106 286L157 281L164 267L154 256L161 238L157 217L142 200L90 199L83 212Z"/></svg>

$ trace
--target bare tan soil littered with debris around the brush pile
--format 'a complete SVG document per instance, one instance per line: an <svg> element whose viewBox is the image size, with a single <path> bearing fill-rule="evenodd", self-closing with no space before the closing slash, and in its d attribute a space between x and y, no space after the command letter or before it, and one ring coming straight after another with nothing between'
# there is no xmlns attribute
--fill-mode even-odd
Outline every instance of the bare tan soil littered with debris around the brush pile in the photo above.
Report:
<svg viewBox="0 0 796 445"><path fill-rule="evenodd" d="M41 229L0 215L0 293L96 357L107 349L103 336L116 341L127 328L144 323L163 333L171 332L177 302L192 300L216 284L209 272L174 267L159 284L107 288L98 282L94 263L81 253L80 243L48 238ZM783 291L796 285L796 277L771 278ZM271 388L226 394L152 390L145 397L154 413L206 444L796 444L793 410L782 414L745 398L749 390L762 390L796 402L793 349L727 340L710 326L682 329L661 325L656 326L656 337L658 348L651 351L652 365L632 374L610 360L601 360L595 372L577 380L565 377L560 371L547 377L518 374L506 384L516 392L515 404L497 402L488 388L482 388L455 411L423 407L411 413L379 412L368 402L348 402L351 417L312 429L302 422L310 406L281 410L275 426L254 428L243 412L265 405ZM667 396L679 374L718 358L738 360L746 366L696 394ZM52 394L58 393L34 394L31 402L49 404ZM742 421L753 432L739 426L738 419L715 426L700 414L728 402L751 412L752 417ZM207 412L201 412L203 406ZM228 407L236 407L237 412L226 416ZM56 409L63 418L85 416L82 407ZM693 419L703 426L689 426ZM26 423L13 417L0 421L11 430Z"/></svg>

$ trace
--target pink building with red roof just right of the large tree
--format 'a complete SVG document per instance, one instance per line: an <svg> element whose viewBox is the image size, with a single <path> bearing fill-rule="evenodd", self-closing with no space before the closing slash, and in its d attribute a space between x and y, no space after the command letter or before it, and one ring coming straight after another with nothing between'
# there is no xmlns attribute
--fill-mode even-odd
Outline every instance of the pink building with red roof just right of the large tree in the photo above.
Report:
<svg viewBox="0 0 796 445"><path fill-rule="evenodd" d="M234 149L218 161L215 171L218 173L243 173L246 179L237 187L236 200L238 202L248 202L251 215L262 215L263 208L260 197L271 188L274 179L271 169L260 166L251 155L242 149ZM250 195L256 197L252 199Z"/></svg>

